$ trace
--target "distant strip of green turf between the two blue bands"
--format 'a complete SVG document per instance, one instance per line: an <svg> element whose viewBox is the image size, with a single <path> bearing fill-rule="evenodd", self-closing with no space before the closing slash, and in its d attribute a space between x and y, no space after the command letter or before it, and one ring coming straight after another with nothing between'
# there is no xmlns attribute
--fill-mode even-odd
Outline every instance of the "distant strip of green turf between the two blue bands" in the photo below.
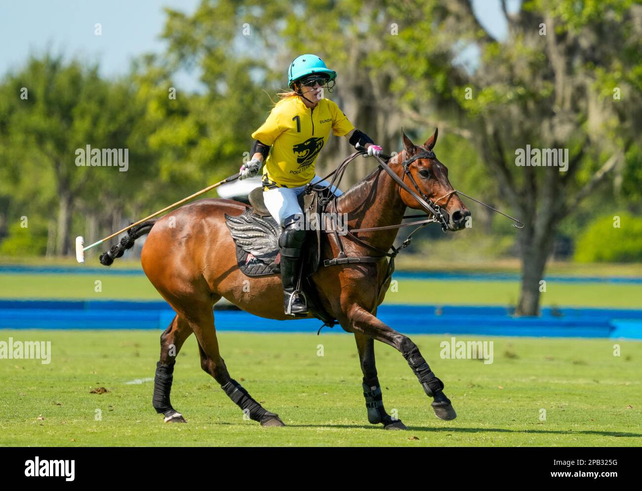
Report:
<svg viewBox="0 0 642 491"><path fill-rule="evenodd" d="M100 292L95 291L96 280L101 281ZM386 304L514 305L519 283L401 278L394 289ZM0 298L161 299L144 276L31 274L0 275ZM548 281L542 305L642 308L642 286Z"/></svg>

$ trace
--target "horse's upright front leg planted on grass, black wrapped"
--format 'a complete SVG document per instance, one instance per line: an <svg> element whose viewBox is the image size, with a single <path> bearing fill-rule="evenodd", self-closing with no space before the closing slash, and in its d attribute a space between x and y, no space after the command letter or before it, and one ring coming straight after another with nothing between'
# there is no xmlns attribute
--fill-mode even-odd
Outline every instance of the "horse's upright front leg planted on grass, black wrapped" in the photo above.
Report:
<svg viewBox="0 0 642 491"><path fill-rule="evenodd" d="M368 411L368 421L371 424L381 423L384 429L407 429L401 420L390 417L383 407L383 395L377 377L377 367L374 363L374 340L361 332L354 333L354 340L357 342L359 362L361 372L363 372L361 385L363 386L365 407Z"/></svg>

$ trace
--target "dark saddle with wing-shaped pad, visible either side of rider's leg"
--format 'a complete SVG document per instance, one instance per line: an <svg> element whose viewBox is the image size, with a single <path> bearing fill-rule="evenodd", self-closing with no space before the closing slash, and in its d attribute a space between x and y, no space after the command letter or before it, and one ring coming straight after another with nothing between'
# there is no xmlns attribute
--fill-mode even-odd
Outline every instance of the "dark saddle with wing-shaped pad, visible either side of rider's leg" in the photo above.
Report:
<svg viewBox="0 0 642 491"><path fill-rule="evenodd" d="M306 215L306 239L301 248L302 273L301 289L308 298L308 309L315 317L327 325L334 325L336 320L321 306L313 282L309 279L320 264L321 259L321 224L320 217L325 211L325 203L333 196L323 186L311 186L311 193L299 195L299 205ZM279 263L281 253L279 236L281 225L272 218L263 201L263 188L252 189L248 195L250 207L238 216L225 214L225 225L236 244L236 263L248 277L261 277L281 273ZM307 220L309 218L309 220Z"/></svg>

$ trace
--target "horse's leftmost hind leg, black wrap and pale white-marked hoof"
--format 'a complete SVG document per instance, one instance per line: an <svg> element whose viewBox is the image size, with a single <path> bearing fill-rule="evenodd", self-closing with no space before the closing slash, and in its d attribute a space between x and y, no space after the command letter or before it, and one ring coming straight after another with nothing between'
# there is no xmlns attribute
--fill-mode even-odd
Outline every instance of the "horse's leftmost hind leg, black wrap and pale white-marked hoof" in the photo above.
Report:
<svg viewBox="0 0 642 491"><path fill-rule="evenodd" d="M192 329L189 324L177 315L169 327L160 334L160 359L156 364L152 405L157 413L164 416L166 423L186 423L182 414L171 406L169 393L174 377L176 357L191 333Z"/></svg>

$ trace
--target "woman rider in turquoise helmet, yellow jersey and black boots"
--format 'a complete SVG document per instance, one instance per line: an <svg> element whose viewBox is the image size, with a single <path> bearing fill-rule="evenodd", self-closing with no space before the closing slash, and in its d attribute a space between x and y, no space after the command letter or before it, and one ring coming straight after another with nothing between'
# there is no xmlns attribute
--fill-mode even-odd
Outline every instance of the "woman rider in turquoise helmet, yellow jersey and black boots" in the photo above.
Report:
<svg viewBox="0 0 642 491"><path fill-rule="evenodd" d="M239 179L254 177L263 167L263 198L274 220L281 224L281 282L286 314L306 315L308 306L295 293L301 246L306 238L303 213L298 196L306 184L329 185L315 175L315 160L327 141L330 130L345 136L355 148L366 147L368 155L379 155L381 147L368 135L356 130L342 110L324 99L324 86L336 78L336 72L315 55L301 55L290 64L288 85L291 92L279 94L265 123L252 133L256 139L252 160L241 166ZM336 195L342 192L333 187Z"/></svg>

